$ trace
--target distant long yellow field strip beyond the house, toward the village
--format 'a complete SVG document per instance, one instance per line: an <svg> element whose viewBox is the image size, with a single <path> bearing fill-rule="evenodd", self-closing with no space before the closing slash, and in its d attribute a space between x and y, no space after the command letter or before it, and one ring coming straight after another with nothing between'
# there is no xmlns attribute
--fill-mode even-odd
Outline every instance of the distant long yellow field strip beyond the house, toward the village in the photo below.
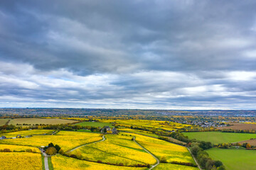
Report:
<svg viewBox="0 0 256 170"><path fill-rule="evenodd" d="M184 125L181 123L172 123L158 120L101 120L105 123L115 122L119 126L130 127L144 127L144 128L161 128L163 130L176 130L184 127L191 127L191 125Z"/></svg>

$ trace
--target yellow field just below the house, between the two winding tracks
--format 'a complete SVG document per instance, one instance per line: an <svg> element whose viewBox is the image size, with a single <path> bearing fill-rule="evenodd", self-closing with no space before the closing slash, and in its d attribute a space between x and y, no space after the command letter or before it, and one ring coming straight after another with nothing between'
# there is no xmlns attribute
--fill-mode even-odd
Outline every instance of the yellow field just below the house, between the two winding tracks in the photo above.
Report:
<svg viewBox="0 0 256 170"><path fill-rule="evenodd" d="M70 154L82 153L82 157L90 161L122 163L125 166L134 164L155 164L156 160L144 152L133 140L132 136L105 135L107 140L80 147Z"/></svg>

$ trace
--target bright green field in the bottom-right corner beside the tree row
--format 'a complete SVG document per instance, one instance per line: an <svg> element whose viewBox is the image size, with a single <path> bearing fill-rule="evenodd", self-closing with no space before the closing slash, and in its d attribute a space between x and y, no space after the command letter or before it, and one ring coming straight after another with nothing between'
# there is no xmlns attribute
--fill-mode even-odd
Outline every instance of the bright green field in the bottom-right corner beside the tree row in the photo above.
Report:
<svg viewBox="0 0 256 170"><path fill-rule="evenodd" d="M211 158L223 162L227 170L255 170L256 152L245 149L219 149L206 150Z"/></svg>

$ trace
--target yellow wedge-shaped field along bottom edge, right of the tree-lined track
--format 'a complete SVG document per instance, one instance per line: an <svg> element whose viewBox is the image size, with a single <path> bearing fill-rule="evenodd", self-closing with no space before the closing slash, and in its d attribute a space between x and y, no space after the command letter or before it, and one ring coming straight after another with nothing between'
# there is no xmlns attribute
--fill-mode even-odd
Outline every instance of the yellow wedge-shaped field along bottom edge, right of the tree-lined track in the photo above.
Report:
<svg viewBox="0 0 256 170"><path fill-rule="evenodd" d="M97 164L94 162L82 161L79 159L73 159L70 157L63 157L62 155L56 155L51 158L53 168L55 170L146 170L146 168L134 168L125 166L113 166L107 164Z"/></svg>

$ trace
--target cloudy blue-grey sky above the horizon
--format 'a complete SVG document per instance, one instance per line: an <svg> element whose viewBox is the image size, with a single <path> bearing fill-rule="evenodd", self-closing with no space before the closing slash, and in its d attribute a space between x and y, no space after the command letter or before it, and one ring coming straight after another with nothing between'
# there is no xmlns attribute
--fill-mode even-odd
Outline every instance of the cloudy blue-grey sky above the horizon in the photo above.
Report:
<svg viewBox="0 0 256 170"><path fill-rule="evenodd" d="M256 109L255 8L2 0L0 107Z"/></svg>

